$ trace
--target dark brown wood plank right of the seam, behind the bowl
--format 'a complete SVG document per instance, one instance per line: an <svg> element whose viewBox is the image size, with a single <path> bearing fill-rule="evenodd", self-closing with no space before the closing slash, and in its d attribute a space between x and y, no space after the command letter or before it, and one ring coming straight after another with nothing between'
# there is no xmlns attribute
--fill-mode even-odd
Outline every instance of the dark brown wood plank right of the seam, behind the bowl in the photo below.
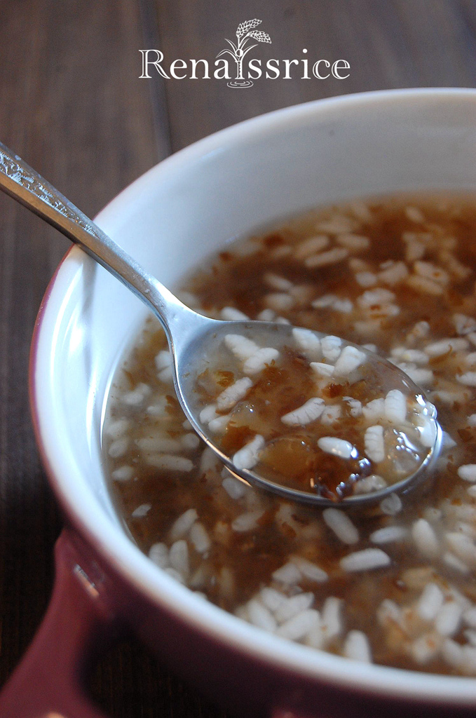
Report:
<svg viewBox="0 0 476 718"><path fill-rule="evenodd" d="M345 93L417 86L474 86L472 0L156 0L164 59L213 62L238 23L258 17L271 36L253 56L344 58L346 80L256 80L233 90L221 80L165 80L172 148L256 114ZM255 55L256 53L256 55ZM232 61L233 63L233 61Z"/></svg>

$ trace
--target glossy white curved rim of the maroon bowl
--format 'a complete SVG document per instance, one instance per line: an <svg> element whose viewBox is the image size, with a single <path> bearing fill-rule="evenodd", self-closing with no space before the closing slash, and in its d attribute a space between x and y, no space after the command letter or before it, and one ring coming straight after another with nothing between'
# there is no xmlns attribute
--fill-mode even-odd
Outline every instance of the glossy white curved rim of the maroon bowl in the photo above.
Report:
<svg viewBox="0 0 476 718"><path fill-rule="evenodd" d="M462 101L476 106L476 89L473 88L410 88L402 90L375 90L366 93L340 95L295 105L248 119L220 130L185 147L149 169L126 189L108 202L97 215L96 221L113 236L131 208L144 202L147 191L164 174L177 172L189 162L223 148L256 139L260 134L275 131L282 126L290 129L299 126L306 118L325 116L345 107L374 108L386 103L418 103L437 99L440 102ZM398 700L408 699L426 704L447 706L476 706L475 679L463 676L439 676L376 664L362 664L333 656L291 641L284 640L255 628L234 615L204 601L154 566L144 554L111 521L106 521L97 505L85 500L75 486L75 472L67 467L61 449L51 437L42 406L47 390L42 376L48 368L52 350L52 330L61 302L73 276L80 271L85 260L83 252L70 248L57 267L39 308L32 337L29 363L30 405L34 432L42 464L50 484L60 500L67 518L76 530L90 542L98 554L113 567L121 578L132 584L157 607L172 612L192 630L206 633L227 645L233 651L288 671L296 671L307 678L325 681L336 689L354 693L372 694ZM88 259L88 261L90 261ZM86 497L87 498L87 497ZM345 661L345 663L342 663ZM345 666L345 671L342 667Z"/></svg>

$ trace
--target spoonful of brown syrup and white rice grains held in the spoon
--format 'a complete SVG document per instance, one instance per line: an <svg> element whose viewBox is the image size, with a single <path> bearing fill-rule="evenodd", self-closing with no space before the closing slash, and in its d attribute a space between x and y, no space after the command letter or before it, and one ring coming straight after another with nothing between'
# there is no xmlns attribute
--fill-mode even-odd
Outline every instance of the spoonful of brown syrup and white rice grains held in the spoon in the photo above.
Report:
<svg viewBox="0 0 476 718"><path fill-rule="evenodd" d="M437 439L421 390L340 337L275 327L225 335L201 359L202 429L235 467L334 502L414 475Z"/></svg>

